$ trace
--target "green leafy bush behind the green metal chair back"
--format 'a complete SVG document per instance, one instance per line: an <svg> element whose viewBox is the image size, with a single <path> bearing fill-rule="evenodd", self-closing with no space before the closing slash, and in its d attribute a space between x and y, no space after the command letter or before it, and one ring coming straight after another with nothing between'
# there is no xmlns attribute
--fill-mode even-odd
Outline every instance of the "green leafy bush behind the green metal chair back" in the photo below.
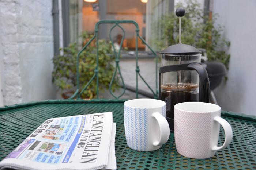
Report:
<svg viewBox="0 0 256 170"><path fill-rule="evenodd" d="M52 72L53 82L61 90L71 89L76 87L76 55L82 46L84 46L93 35L83 32L83 44L71 43L63 50L63 55L58 55L53 59L54 70ZM106 42L105 39L98 41L98 69L99 69L99 91L104 92L109 88L114 66L114 58L111 57L111 43ZM96 68L96 43L91 42L89 46L79 56L79 86L80 90L91 79ZM120 87L119 76L117 75L112 86L112 90ZM81 98L95 98L96 97L96 81L93 80L87 89L83 92Z"/></svg>

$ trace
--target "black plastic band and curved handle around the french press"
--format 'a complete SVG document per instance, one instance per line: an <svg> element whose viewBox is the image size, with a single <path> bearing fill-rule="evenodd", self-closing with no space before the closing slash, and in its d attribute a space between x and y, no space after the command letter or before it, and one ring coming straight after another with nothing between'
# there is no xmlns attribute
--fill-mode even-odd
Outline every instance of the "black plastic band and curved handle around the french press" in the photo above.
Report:
<svg viewBox="0 0 256 170"><path fill-rule="evenodd" d="M200 102L210 101L210 81L206 69L200 63L189 63L172 66L163 66L159 69L159 100L161 99L161 74L180 70L195 70L199 74L199 98Z"/></svg>

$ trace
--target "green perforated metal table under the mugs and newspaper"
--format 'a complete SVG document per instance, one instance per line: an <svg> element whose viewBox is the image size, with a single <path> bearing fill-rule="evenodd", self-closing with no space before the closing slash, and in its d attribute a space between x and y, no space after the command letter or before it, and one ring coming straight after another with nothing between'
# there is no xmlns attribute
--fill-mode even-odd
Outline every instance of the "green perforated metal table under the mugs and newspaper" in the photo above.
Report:
<svg viewBox="0 0 256 170"><path fill-rule="evenodd" d="M0 160L4 159L41 123L52 117L113 112L117 123L117 169L256 169L256 116L222 111L233 128L229 147L212 158L191 159L178 154L174 134L159 150L140 152L125 141L123 103L125 100L47 100L0 108ZM221 129L219 144L225 139Z"/></svg>

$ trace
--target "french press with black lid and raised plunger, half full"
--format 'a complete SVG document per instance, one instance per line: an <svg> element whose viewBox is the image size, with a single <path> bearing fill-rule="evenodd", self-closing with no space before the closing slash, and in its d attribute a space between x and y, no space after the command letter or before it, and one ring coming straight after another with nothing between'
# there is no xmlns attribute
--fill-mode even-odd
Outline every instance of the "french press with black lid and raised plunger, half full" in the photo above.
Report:
<svg viewBox="0 0 256 170"><path fill-rule="evenodd" d="M159 70L159 99L166 103L166 119L170 131L174 131L174 105L181 102L209 103L210 82L206 69L201 65L201 52L193 46L181 43L181 17L183 8L176 9L179 17L179 43L161 53Z"/></svg>

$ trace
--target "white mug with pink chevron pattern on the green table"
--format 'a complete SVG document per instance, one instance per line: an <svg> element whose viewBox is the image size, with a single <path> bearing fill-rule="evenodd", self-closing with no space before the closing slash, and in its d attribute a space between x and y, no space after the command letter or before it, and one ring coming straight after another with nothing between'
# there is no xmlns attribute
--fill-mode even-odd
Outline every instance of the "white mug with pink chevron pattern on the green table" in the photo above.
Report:
<svg viewBox="0 0 256 170"><path fill-rule="evenodd" d="M174 106L174 137L179 154L206 159L229 146L233 131L221 117L221 107L211 103L184 102ZM218 146L219 128L225 131L225 142Z"/></svg>

